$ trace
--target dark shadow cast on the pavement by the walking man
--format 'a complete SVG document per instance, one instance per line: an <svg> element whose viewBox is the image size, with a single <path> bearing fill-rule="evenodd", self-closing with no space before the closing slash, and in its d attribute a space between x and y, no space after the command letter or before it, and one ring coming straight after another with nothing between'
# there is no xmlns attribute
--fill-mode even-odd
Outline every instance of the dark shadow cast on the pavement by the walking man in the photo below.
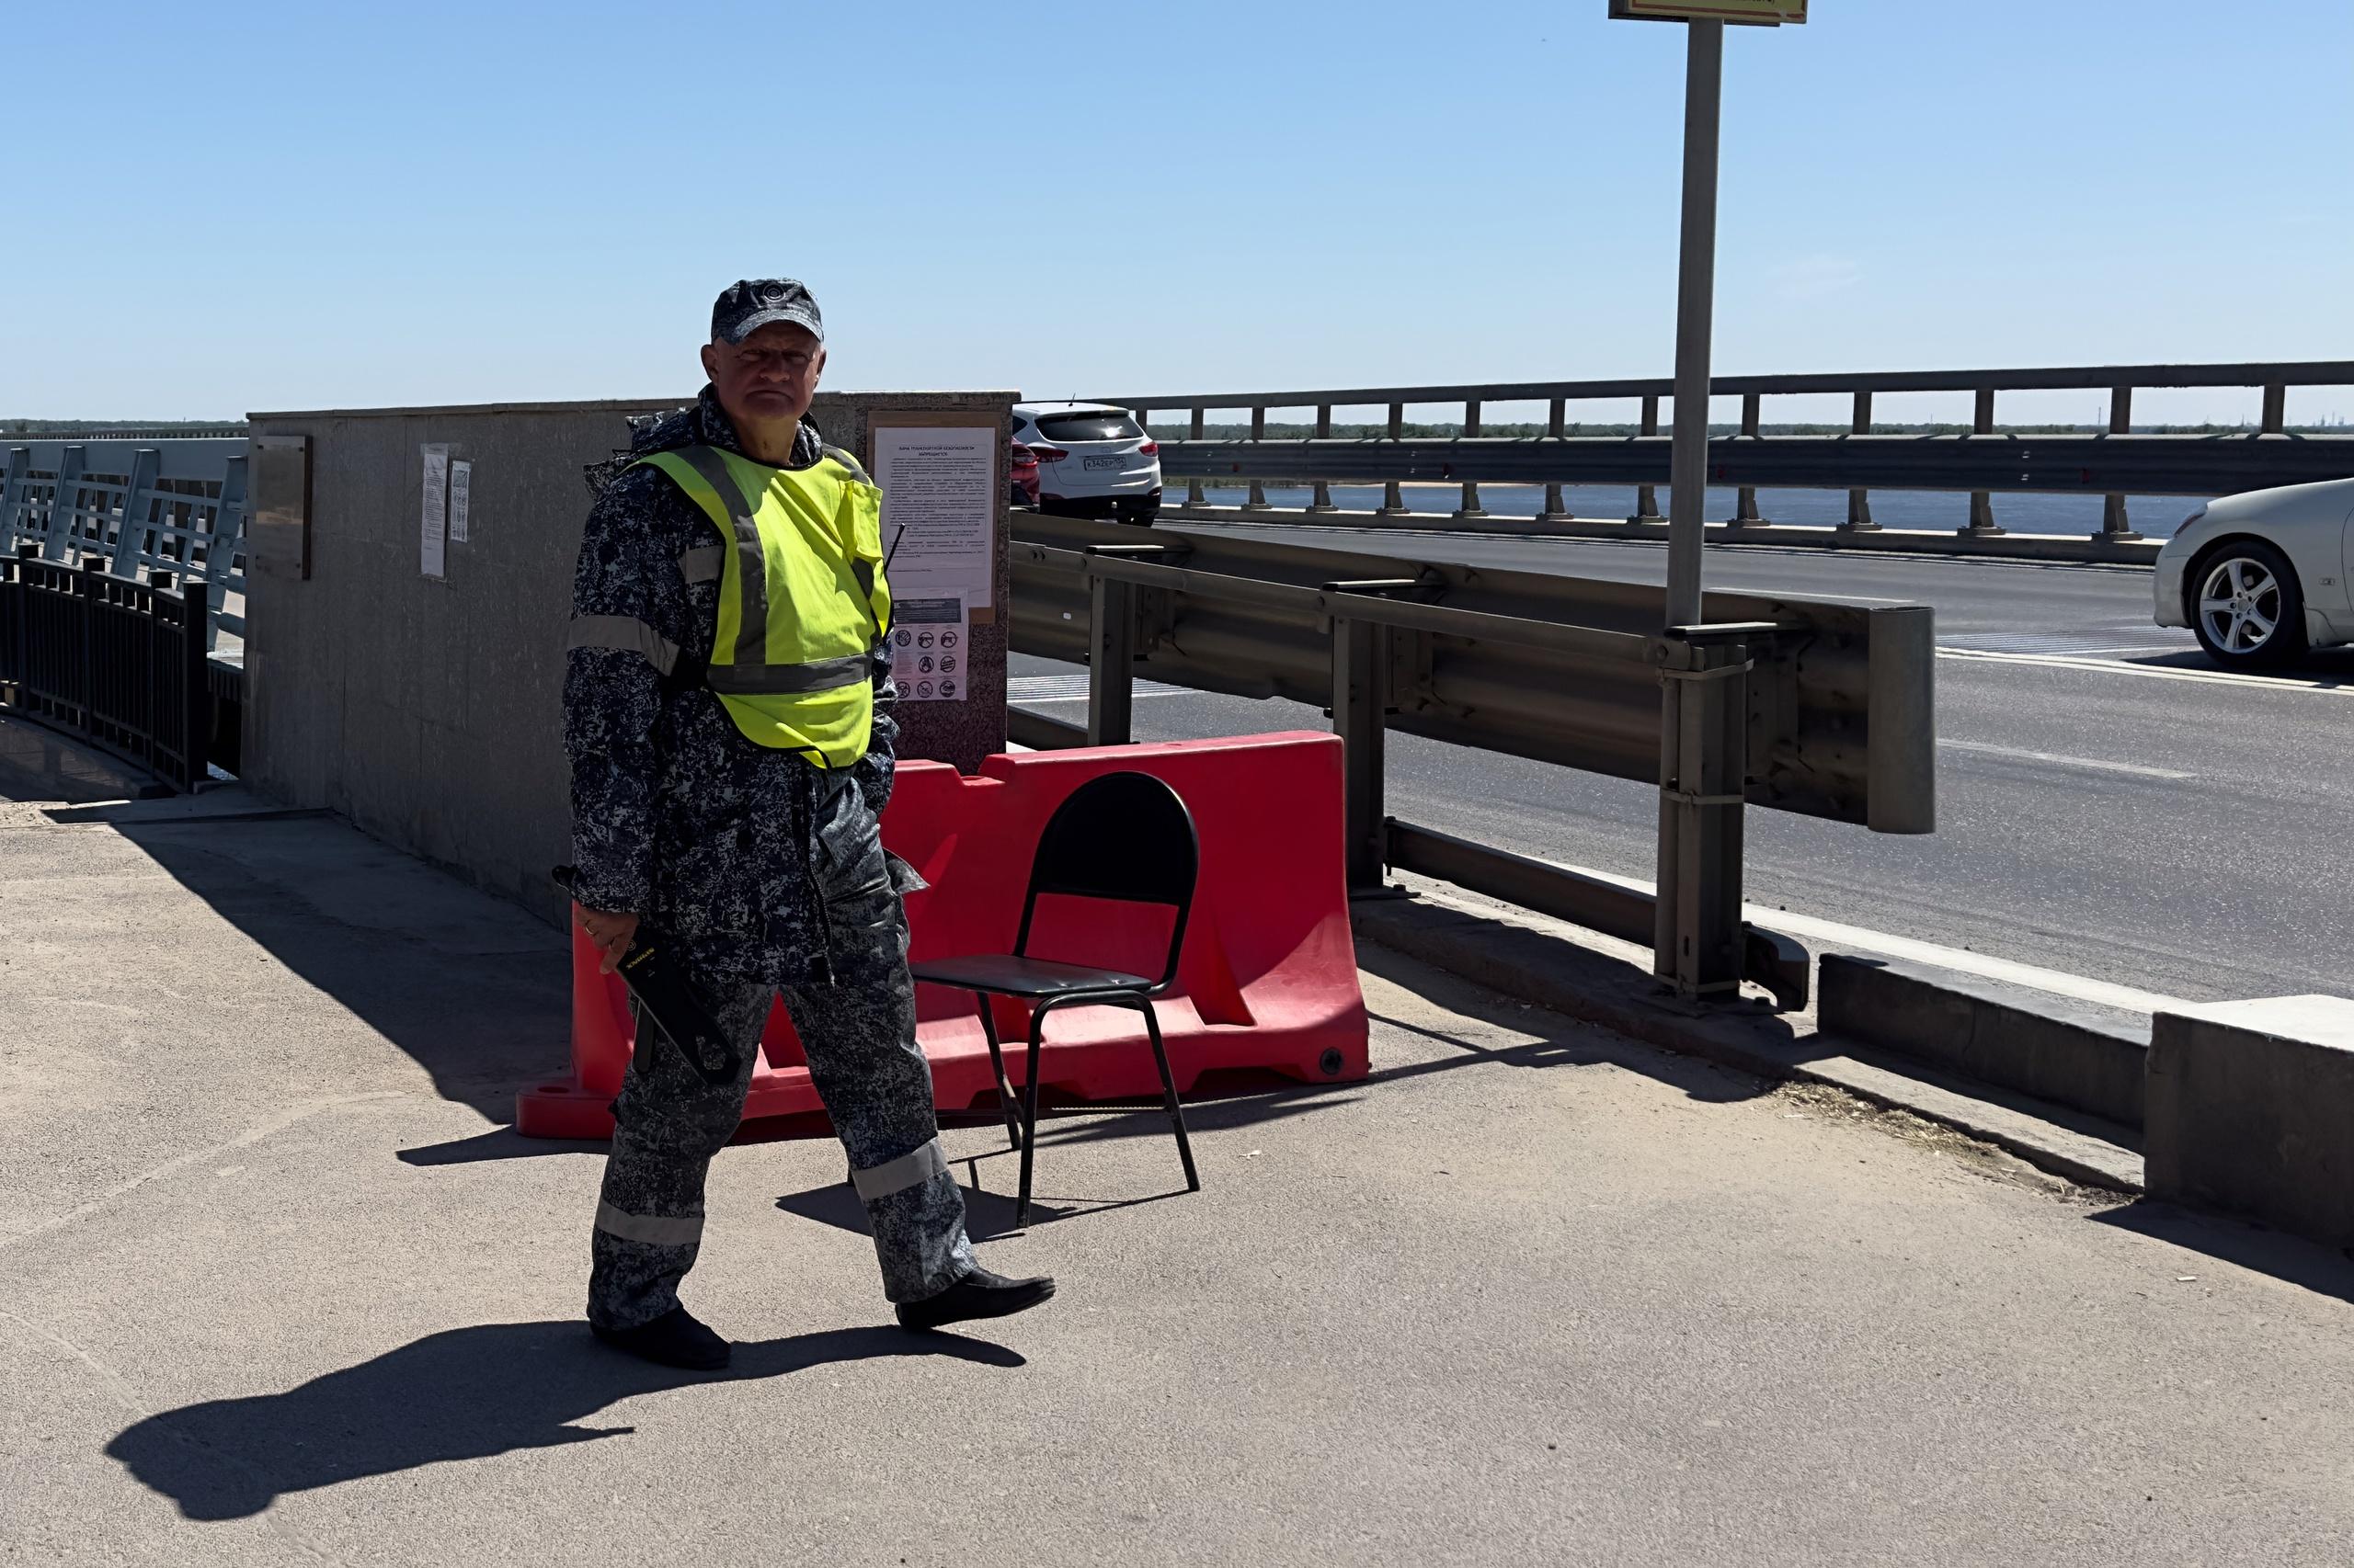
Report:
<svg viewBox="0 0 2354 1568"><path fill-rule="evenodd" d="M833 1361L958 1356L1024 1366L1022 1356L960 1335L831 1328L734 1347L725 1373L673 1373L605 1349L579 1318L483 1323L327 1373L285 1394L214 1398L125 1427L106 1446L188 1519L245 1519L280 1493L384 1476L445 1460L558 1448L636 1427L579 1427L617 1398L687 1382L784 1377Z"/></svg>

